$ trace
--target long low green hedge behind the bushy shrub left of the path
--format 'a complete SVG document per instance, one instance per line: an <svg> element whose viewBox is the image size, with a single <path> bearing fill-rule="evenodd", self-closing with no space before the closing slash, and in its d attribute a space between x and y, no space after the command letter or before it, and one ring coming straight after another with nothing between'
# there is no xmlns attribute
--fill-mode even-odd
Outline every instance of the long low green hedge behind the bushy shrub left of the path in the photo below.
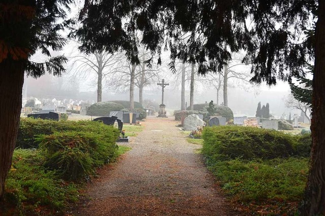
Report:
<svg viewBox="0 0 325 216"><path fill-rule="evenodd" d="M89 132L103 133L110 138L111 134L117 132L116 128L103 124L100 121L53 121L35 118L21 118L16 147L37 148L36 135L51 135L54 132Z"/></svg>

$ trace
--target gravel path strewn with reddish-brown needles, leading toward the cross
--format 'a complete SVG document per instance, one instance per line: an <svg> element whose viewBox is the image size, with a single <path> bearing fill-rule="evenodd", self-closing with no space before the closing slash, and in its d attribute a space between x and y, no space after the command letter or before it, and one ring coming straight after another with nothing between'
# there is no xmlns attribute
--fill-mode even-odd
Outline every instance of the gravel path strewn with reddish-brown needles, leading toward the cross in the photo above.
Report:
<svg viewBox="0 0 325 216"><path fill-rule="evenodd" d="M100 169L75 215L237 215L173 117L147 118L132 150ZM123 144L124 145L124 144Z"/></svg>

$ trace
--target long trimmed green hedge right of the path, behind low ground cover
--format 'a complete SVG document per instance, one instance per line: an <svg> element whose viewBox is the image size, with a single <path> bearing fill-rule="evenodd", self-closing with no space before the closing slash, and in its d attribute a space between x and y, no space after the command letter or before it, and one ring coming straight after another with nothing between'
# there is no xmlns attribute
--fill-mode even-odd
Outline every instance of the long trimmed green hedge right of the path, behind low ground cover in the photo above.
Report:
<svg viewBox="0 0 325 216"><path fill-rule="evenodd" d="M273 159L309 154L309 141L305 138L297 139L270 129L243 126L205 127L202 138L202 152L213 160Z"/></svg>

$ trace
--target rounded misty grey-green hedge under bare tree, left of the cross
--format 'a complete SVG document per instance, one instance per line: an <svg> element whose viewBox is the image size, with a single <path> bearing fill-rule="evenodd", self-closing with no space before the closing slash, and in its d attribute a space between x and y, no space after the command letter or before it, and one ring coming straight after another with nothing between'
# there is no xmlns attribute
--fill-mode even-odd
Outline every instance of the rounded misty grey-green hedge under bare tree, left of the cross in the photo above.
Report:
<svg viewBox="0 0 325 216"><path fill-rule="evenodd" d="M88 107L87 115L109 116L111 111L120 111L124 108L123 105L115 102L98 102Z"/></svg>

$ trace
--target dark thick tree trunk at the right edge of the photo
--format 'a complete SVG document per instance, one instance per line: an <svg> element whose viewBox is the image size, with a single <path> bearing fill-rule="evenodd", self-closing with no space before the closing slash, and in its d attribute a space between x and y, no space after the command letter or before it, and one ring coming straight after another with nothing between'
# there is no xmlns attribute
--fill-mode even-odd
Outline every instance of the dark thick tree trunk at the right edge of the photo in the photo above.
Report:
<svg viewBox="0 0 325 216"><path fill-rule="evenodd" d="M310 170L301 215L325 215L325 1L318 1Z"/></svg>

